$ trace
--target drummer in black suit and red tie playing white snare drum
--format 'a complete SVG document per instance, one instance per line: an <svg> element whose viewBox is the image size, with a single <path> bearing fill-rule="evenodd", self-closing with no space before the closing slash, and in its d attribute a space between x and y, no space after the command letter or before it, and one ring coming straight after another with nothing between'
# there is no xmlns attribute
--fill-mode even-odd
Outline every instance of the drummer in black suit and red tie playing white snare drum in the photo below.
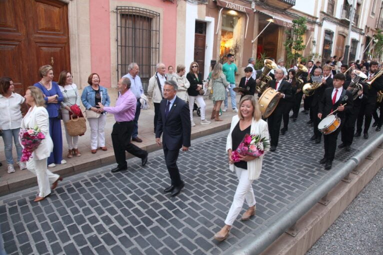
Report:
<svg viewBox="0 0 383 255"><path fill-rule="evenodd" d="M323 137L324 156L319 163L325 164L324 169L326 170L329 170L332 167L332 160L334 159L336 150L336 139L342 124L344 124L345 114L349 113L352 109L352 93L343 89L344 81L344 74L335 74L333 78L333 88L326 88L319 101L319 110L317 114L319 119L326 117L329 113L335 110L337 110L336 115L340 118L340 127Z"/></svg>

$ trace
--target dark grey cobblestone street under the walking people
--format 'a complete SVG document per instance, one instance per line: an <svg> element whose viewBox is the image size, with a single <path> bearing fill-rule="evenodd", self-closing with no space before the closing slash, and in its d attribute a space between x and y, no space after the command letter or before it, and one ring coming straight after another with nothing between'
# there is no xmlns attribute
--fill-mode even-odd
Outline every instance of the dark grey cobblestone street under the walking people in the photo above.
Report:
<svg viewBox="0 0 383 255"><path fill-rule="evenodd" d="M224 225L237 185L224 152L228 131L193 140L190 151L180 153L185 188L175 198L163 194L169 178L162 150L150 153L145 167L132 159L128 170L117 174L110 173L115 166L110 165L65 178L40 203L33 202L37 187L0 197L5 251L10 255L232 253L380 134L370 130L369 140L356 138L350 153L338 150L332 169L325 171L318 163L323 141L309 141L312 128L305 124L307 117L301 114L290 122L277 151L265 156L261 178L253 183L256 216L235 221L224 242L212 237Z"/></svg>

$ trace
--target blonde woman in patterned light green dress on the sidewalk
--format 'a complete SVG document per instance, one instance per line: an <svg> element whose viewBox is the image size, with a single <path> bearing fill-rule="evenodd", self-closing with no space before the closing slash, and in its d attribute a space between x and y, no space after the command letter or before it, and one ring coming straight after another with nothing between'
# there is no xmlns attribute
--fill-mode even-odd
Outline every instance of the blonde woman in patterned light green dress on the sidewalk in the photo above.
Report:
<svg viewBox="0 0 383 255"><path fill-rule="evenodd" d="M214 106L210 119L214 119L215 121L222 121L219 118L219 110L221 108L222 101L225 99L226 88L229 83L226 80L226 76L222 72L222 64L219 62L214 65L214 68L211 72L211 84L213 90L211 100L213 100Z"/></svg>

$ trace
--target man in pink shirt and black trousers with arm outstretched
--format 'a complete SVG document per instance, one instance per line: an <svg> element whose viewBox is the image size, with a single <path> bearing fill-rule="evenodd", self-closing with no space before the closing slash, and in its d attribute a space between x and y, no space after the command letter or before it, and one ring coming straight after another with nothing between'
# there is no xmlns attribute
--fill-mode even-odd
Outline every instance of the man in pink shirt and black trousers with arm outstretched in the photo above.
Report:
<svg viewBox="0 0 383 255"><path fill-rule="evenodd" d="M119 96L114 107L105 107L98 103L105 112L114 114L115 123L111 131L111 141L113 143L115 161L118 165L111 170L112 173L127 169L125 151L140 158L142 166L147 162L147 152L130 143L137 102L134 94L130 91L130 84L128 78L119 79L117 86Z"/></svg>

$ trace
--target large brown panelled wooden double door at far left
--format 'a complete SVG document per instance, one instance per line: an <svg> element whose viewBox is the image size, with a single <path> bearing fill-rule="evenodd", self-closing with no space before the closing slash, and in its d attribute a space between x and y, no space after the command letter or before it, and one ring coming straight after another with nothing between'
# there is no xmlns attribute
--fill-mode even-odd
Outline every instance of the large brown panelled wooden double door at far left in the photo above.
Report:
<svg viewBox="0 0 383 255"><path fill-rule="evenodd" d="M50 64L54 80L70 71L67 4L59 0L0 1L0 76L24 94L40 80L38 68Z"/></svg>

